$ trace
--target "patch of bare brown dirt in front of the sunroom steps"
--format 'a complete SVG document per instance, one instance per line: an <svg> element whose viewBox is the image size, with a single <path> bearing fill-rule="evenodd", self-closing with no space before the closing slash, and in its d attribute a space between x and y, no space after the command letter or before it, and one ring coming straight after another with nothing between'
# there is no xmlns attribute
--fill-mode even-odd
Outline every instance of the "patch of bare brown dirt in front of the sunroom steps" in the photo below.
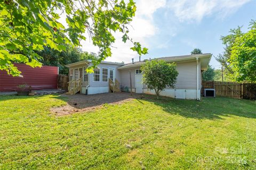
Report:
<svg viewBox="0 0 256 170"><path fill-rule="evenodd" d="M51 112L58 116L69 115L76 112L92 111L93 109L102 107L103 104L122 104L132 99L141 99L143 95L121 92L121 93L106 93L96 95L65 95L68 98L67 105L61 107L53 107Z"/></svg>

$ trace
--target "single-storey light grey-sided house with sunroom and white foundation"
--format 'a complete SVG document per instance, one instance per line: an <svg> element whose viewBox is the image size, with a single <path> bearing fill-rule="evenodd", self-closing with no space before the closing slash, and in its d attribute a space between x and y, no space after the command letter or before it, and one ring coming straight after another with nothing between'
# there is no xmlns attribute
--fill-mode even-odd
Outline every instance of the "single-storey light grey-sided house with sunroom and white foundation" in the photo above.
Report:
<svg viewBox="0 0 256 170"><path fill-rule="evenodd" d="M176 63L179 75L174 88L166 88L161 92L162 96L178 99L200 99L202 72L207 69L212 54L196 54L173 57L155 58L153 60L164 60ZM99 94L125 88L136 93L154 94L153 90L147 89L142 84L142 73L140 67L147 60L132 62L128 64L101 62L94 73L87 74L86 68L91 65L90 60L76 62L66 65L69 67L69 80L76 82L80 80L81 87L76 91L82 94ZM131 78L130 78L131 74ZM131 80L131 81L130 81ZM132 88L130 88L132 87ZM121 89L122 89L121 88ZM115 89L115 88L114 88Z"/></svg>

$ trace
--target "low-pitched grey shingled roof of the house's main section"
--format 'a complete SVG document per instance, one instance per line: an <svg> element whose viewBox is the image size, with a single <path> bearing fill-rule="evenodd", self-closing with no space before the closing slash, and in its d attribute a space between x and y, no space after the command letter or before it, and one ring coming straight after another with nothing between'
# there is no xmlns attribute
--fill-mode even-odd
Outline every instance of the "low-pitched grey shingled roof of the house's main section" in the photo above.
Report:
<svg viewBox="0 0 256 170"><path fill-rule="evenodd" d="M182 61L182 60L190 60L193 58L203 58L203 57L211 57L211 53L205 53L205 54L195 54L195 55L182 55L182 56L172 56L172 57L160 57L160 58L154 58L151 60L164 60L166 62L174 62L174 61ZM140 62L133 62L133 63L127 63L121 67L118 67L118 69L127 69L130 67L138 67L141 66L143 63L145 63L147 60L143 60Z"/></svg>

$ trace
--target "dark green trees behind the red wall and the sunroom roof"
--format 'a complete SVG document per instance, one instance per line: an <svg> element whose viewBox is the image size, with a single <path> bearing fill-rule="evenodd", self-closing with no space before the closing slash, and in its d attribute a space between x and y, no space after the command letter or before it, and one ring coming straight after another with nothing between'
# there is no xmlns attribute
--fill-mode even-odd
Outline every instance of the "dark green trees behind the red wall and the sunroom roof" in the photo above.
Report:
<svg viewBox="0 0 256 170"><path fill-rule="evenodd" d="M39 61L44 65L52 65L59 67L60 74L68 74L67 64L83 61L83 60L95 60L97 56L93 53L83 52L79 48L66 46L66 50L60 52L50 47L44 47L43 50L36 52L39 56L42 56Z"/></svg>

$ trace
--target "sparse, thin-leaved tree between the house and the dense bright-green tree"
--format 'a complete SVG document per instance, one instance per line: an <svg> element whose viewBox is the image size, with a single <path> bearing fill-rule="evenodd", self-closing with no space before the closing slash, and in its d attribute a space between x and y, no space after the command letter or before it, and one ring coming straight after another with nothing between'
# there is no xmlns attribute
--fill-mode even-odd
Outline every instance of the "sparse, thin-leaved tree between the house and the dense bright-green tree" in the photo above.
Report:
<svg viewBox="0 0 256 170"><path fill-rule="evenodd" d="M241 28L242 27L238 26L236 29L230 29L229 35L221 36L220 39L222 41L222 44L225 45L224 52L222 54L214 56L215 59L221 64L223 73L225 73L226 75L233 74L232 69L229 67L229 58L231 56L231 50L235 43L235 39L243 35Z"/></svg>

